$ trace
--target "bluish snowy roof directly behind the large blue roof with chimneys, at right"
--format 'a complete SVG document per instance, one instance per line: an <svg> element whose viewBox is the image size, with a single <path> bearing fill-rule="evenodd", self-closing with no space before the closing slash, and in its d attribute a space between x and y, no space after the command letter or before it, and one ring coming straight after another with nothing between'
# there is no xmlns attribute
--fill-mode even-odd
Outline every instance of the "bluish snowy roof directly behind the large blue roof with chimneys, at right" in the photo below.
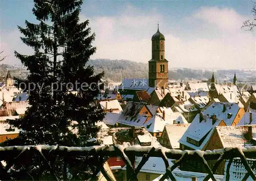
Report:
<svg viewBox="0 0 256 181"><path fill-rule="evenodd" d="M226 107L225 112L223 112L224 106ZM222 119L226 125L231 125L239 109L240 107L236 103L214 102L203 111L203 115L211 116L215 114L216 117ZM228 114L231 114L230 118L228 118Z"/></svg>

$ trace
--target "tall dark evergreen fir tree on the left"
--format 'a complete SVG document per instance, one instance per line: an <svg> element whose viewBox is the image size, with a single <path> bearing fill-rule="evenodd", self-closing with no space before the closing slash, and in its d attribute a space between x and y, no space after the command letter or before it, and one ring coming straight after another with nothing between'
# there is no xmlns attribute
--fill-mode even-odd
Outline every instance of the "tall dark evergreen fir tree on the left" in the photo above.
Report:
<svg viewBox="0 0 256 181"><path fill-rule="evenodd" d="M96 50L92 46L95 34L90 35L88 20L79 22L82 0L34 0L34 3L33 14L39 23L26 21L26 28L18 27L25 36L22 41L34 48L34 55L15 51L31 73L27 81L16 79L17 83L26 84L22 88L29 93L31 107L23 118L9 121L21 131L19 137L5 144L86 146L86 140L96 137L99 129L96 122L103 119L102 111L90 106L99 93L103 73L94 75L93 67L86 66ZM97 156L60 158L54 170L61 179L84 180L97 172L90 166L97 161ZM19 160L14 168L16 171L11 174L16 179L54 179L38 156ZM24 174L28 170L29 174Z"/></svg>

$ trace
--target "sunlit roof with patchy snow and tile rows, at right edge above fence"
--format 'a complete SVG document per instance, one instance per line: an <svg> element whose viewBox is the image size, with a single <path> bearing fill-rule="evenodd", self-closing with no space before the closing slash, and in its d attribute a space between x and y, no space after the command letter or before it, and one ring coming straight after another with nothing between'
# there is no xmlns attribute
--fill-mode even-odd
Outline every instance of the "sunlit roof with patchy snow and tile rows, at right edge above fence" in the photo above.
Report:
<svg viewBox="0 0 256 181"><path fill-rule="evenodd" d="M252 138L256 138L256 125L252 127ZM248 140L248 125L245 126L217 126L216 130L221 139L223 147L253 146Z"/></svg>

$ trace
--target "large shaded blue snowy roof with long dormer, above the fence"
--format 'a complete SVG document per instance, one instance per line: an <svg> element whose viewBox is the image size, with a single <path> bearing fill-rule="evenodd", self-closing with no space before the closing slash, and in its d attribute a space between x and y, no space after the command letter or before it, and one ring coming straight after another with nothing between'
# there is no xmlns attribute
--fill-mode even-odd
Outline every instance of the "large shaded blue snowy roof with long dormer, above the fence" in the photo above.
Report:
<svg viewBox="0 0 256 181"><path fill-rule="evenodd" d="M212 132L214 131L215 126L218 126L222 120L216 118L216 121L213 121L210 116L203 116L203 120L200 122L200 114L194 118L194 120L188 126L186 132L179 140L179 143L186 145L193 149L203 149ZM196 140L201 144L195 145L187 142L187 138Z"/></svg>

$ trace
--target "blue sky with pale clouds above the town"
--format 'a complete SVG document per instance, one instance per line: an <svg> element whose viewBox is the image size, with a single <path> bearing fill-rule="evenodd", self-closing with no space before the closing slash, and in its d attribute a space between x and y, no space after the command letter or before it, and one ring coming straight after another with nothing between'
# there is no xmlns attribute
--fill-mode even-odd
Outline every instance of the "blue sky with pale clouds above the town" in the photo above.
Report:
<svg viewBox="0 0 256 181"><path fill-rule="evenodd" d="M21 64L18 53L33 50L19 37L17 25L36 23L32 0L2 0L0 3L1 63ZM96 53L91 59L151 59L151 37L159 30L165 36L165 58L169 68L256 70L255 30L242 29L253 18L252 1L195 0L85 0L80 20L89 19L96 34Z"/></svg>

